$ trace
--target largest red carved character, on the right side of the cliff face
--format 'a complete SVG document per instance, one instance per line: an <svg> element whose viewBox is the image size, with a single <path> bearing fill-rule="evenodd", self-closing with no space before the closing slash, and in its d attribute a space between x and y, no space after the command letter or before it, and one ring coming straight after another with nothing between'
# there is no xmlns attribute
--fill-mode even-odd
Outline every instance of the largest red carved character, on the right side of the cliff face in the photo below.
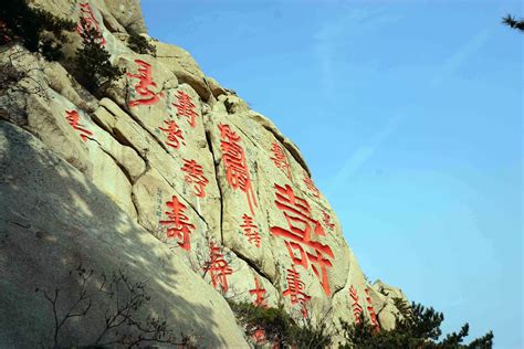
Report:
<svg viewBox="0 0 524 349"><path fill-rule="evenodd" d="M287 247L293 264L302 265L307 268L307 260L311 262L313 272L321 282L326 295L329 296L331 288L326 268L332 267L333 265L326 256L331 258L334 258L335 256L328 245L323 245L319 242L312 240L312 232L321 236L326 235L321 222L312 218L311 208L307 201L296 197L290 186L286 184L285 188L283 188L275 184L275 189L276 208L283 211L289 224L289 230L280 226L272 226L270 228L270 232L273 235L290 240L285 241L285 246ZM304 246L314 250L314 253L304 251ZM296 256L294 251L297 251L300 256Z"/></svg>

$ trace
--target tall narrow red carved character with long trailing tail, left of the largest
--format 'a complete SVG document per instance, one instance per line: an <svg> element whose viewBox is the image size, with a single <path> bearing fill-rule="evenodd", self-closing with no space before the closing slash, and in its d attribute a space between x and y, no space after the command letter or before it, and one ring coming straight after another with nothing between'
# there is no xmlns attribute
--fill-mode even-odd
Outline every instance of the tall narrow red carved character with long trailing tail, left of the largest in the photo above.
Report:
<svg viewBox="0 0 524 349"><path fill-rule="evenodd" d="M240 189L248 197L249 208L254 214L253 204L258 207L254 198L253 186L245 160L244 149L240 146L240 136L231 130L229 125L219 126L220 147L222 149L222 161L226 167L226 178L233 189Z"/></svg>

